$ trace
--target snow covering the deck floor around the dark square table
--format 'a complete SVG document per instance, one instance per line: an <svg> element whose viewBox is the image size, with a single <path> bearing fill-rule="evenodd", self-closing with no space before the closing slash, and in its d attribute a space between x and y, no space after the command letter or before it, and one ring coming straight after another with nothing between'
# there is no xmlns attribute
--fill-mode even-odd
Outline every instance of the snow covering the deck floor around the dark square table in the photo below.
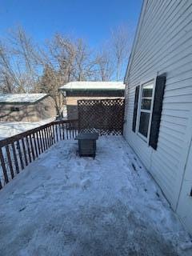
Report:
<svg viewBox="0 0 192 256"><path fill-rule="evenodd" d="M190 236L120 137L63 141L0 191L1 255L192 255Z"/></svg>

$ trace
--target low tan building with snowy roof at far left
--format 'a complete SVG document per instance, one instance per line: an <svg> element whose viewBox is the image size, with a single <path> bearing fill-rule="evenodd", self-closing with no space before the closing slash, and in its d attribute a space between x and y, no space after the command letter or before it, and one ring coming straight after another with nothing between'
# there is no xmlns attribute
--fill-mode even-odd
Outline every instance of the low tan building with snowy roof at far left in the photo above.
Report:
<svg viewBox="0 0 192 256"><path fill-rule="evenodd" d="M1 122L37 122L55 116L48 94L0 94Z"/></svg>

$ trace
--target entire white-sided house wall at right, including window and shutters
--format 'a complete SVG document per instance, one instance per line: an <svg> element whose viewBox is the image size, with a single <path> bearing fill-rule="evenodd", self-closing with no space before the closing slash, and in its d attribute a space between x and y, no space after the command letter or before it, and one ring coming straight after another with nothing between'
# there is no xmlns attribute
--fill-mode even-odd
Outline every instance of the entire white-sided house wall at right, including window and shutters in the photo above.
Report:
<svg viewBox="0 0 192 256"><path fill-rule="evenodd" d="M126 71L124 135L192 234L192 2L145 0Z"/></svg>

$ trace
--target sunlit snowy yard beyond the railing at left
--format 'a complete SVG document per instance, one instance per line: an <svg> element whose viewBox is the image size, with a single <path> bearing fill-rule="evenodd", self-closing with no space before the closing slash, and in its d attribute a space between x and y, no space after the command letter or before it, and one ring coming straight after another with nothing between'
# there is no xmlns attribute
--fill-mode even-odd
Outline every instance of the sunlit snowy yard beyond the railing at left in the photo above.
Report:
<svg viewBox="0 0 192 256"><path fill-rule="evenodd" d="M38 126L42 126L51 121L53 121L53 118L45 119L39 122L0 122L0 140L2 138L20 134L23 131L33 129Z"/></svg>

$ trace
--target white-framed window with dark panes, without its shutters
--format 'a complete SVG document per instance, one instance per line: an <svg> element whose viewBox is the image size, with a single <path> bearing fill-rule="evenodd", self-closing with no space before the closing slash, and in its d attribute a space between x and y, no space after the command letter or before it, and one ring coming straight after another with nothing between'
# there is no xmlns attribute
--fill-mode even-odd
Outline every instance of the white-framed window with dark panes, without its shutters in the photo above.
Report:
<svg viewBox="0 0 192 256"><path fill-rule="evenodd" d="M140 107L138 114L138 134L148 141L150 134L150 119L152 114L154 82L148 82L141 87Z"/></svg>

